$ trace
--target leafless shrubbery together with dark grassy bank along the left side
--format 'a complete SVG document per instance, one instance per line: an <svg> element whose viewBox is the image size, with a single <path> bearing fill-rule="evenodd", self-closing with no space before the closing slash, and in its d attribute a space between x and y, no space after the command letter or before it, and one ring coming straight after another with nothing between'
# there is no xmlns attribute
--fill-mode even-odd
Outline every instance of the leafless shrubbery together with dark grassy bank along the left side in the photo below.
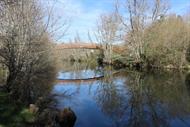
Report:
<svg viewBox="0 0 190 127"><path fill-rule="evenodd" d="M0 1L0 64L7 71L0 89L2 127L73 126L71 109L50 108L57 73L54 20L52 8L46 9L42 1ZM73 114L72 123L68 113Z"/></svg>

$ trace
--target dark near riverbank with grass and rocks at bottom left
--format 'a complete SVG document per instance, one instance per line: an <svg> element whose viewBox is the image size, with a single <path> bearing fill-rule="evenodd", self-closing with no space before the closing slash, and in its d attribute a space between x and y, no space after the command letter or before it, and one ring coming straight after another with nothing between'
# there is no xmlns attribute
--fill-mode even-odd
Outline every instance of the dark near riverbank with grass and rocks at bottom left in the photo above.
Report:
<svg viewBox="0 0 190 127"><path fill-rule="evenodd" d="M36 104L27 106L0 91L0 127L73 127L75 113L70 108L56 109L51 106L51 99L40 98Z"/></svg>

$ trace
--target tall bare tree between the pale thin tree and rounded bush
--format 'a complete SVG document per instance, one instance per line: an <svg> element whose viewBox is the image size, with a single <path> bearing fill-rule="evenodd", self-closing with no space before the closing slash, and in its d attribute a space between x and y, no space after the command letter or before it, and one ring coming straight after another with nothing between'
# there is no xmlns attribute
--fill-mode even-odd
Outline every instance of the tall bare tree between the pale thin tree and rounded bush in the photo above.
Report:
<svg viewBox="0 0 190 127"><path fill-rule="evenodd" d="M143 41L144 30L149 24L163 17L168 6L162 0L126 0L125 5L127 13L122 21L127 31L128 55L138 63L142 61L146 47Z"/></svg>

